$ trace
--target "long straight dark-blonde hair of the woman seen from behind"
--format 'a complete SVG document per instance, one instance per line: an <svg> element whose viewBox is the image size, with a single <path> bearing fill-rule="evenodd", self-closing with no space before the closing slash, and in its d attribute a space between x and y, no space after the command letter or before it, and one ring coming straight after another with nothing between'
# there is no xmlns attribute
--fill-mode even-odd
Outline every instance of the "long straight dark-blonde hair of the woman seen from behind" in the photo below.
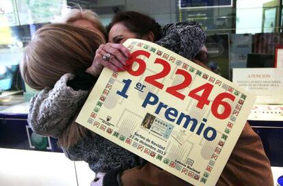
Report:
<svg viewBox="0 0 283 186"><path fill-rule="evenodd" d="M45 25L36 31L25 49L21 75L31 88L53 88L62 75L91 66L96 49L104 42L104 38L88 29L68 24ZM87 129L74 119L58 138L59 144L68 148L86 133Z"/></svg>

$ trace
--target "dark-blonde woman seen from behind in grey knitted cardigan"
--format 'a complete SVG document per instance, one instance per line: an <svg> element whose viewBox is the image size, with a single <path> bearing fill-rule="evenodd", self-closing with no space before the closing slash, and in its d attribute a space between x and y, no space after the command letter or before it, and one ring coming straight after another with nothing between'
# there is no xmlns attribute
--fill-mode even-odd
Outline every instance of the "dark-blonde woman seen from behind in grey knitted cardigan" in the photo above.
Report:
<svg viewBox="0 0 283 186"><path fill-rule="evenodd" d="M30 103L28 122L33 131L57 137L70 159L86 161L94 172L133 168L142 161L75 122L96 81L85 69L93 71L96 50L104 42L105 38L89 29L45 25L36 31L20 64L27 85L42 90Z"/></svg>

